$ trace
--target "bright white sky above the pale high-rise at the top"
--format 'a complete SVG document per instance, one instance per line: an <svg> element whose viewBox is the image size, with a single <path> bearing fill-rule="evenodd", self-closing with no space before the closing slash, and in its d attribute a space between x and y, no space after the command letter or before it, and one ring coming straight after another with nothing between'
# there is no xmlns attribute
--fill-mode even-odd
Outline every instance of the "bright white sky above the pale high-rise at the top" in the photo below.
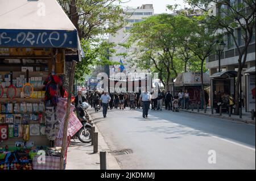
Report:
<svg viewBox="0 0 256 181"><path fill-rule="evenodd" d="M129 0L122 0L122 2L127 2ZM160 14L163 12L170 12L170 10L167 10L166 5L180 5L178 9L184 9L185 7L189 7L187 3L184 3L183 0L130 0L127 3L123 3L122 6L129 6L129 7L140 7L143 4L153 4L154 7L154 13Z"/></svg>

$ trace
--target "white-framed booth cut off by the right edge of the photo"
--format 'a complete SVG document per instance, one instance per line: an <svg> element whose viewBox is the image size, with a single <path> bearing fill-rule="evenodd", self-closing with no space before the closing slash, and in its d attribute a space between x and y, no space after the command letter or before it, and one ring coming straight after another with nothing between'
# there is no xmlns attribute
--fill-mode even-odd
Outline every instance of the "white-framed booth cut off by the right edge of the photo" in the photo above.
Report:
<svg viewBox="0 0 256 181"><path fill-rule="evenodd" d="M245 71L246 75L246 112L255 111L255 66Z"/></svg>

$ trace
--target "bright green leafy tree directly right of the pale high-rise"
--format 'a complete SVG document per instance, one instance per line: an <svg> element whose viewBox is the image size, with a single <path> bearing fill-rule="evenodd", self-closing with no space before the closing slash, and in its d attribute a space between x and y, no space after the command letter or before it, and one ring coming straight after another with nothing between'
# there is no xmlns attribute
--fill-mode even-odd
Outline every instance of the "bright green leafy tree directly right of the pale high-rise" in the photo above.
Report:
<svg viewBox="0 0 256 181"><path fill-rule="evenodd" d="M143 22L134 23L130 30L129 41L138 46L131 61L142 66L146 66L144 63L147 61L147 66L154 66L159 71L159 78L166 90L169 89L171 77L177 77L178 73L175 67L175 53L180 45L179 37L183 36L183 32L178 28L181 19L184 19L184 16L150 16Z"/></svg>

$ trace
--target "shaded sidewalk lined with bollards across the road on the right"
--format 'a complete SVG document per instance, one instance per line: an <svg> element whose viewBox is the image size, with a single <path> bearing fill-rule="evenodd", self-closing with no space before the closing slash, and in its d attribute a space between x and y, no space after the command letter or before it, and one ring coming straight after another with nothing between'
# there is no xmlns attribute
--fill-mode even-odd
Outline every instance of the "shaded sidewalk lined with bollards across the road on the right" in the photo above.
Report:
<svg viewBox="0 0 256 181"><path fill-rule="evenodd" d="M255 125L255 117L254 117L254 120L251 120L251 113L245 112L245 108L242 109L242 118L240 118L239 115L231 115L231 117L229 117L228 113L222 113L222 115L220 116L220 113L216 113L215 110L213 110L213 114L212 114L212 110L210 110L210 107L207 107L206 113L204 113L204 110L201 110L201 109L199 110L199 112L197 112L197 109L194 109L193 111L180 109L180 111L189 112L189 113L197 113L200 115L206 115L206 116L210 116L210 117L217 117L217 118L222 118L222 119L227 119L227 120L238 121L238 122L242 122L242 123Z"/></svg>

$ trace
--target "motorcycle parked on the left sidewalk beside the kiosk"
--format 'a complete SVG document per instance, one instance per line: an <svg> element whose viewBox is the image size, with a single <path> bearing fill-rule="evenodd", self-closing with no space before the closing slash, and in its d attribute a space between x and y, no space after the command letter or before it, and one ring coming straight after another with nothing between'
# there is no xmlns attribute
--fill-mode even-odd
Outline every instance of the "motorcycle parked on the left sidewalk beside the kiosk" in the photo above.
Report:
<svg viewBox="0 0 256 181"><path fill-rule="evenodd" d="M85 111L89 107L88 103L83 102L78 109L78 119L81 121L83 127L75 134L77 138L83 143L89 143L92 141L92 125L88 123L88 120L85 117ZM74 138L74 137L73 137Z"/></svg>

